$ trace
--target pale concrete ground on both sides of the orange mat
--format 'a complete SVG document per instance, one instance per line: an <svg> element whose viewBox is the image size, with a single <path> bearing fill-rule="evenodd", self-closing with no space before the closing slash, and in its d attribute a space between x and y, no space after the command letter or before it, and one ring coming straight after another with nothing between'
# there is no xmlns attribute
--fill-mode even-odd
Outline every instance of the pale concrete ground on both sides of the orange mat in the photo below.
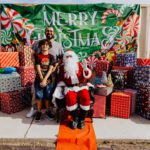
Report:
<svg viewBox="0 0 150 150"><path fill-rule="evenodd" d="M25 117L28 111L26 109L11 115L0 112L0 150L4 150L3 146L7 145L8 147L8 143L13 144L14 139L21 140L24 146L26 142L28 144L32 141L36 142L36 139L39 143L42 141L43 143L54 144L57 139L59 124L55 120L49 121L47 118L35 122L34 118ZM98 147L103 146L103 149L100 148L102 150L121 150L124 147L123 144L129 144L131 147L138 144L142 144L143 147L145 144L144 150L150 150L150 121L140 116L133 115L130 119L94 118L93 127ZM122 148L116 147L116 143L118 146L121 144ZM29 146L28 144L26 146ZM140 145L138 146L140 147ZM55 149L54 145L52 147ZM138 150L138 148L136 149Z"/></svg>

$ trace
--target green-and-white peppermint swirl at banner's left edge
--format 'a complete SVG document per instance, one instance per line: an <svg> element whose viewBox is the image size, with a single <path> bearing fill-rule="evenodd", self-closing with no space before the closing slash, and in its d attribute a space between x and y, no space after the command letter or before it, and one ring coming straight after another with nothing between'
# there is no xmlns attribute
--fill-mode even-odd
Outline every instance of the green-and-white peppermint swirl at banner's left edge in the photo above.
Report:
<svg viewBox="0 0 150 150"><path fill-rule="evenodd" d="M10 44L12 41L11 33L7 30L1 30L1 41L3 45Z"/></svg>

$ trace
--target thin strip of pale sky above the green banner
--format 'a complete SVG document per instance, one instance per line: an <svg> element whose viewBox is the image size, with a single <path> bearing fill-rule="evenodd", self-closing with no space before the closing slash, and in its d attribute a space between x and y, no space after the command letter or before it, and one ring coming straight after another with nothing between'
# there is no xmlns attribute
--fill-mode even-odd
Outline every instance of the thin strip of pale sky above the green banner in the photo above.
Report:
<svg viewBox="0 0 150 150"><path fill-rule="evenodd" d="M150 0L0 0L0 3L85 4L85 3L150 4Z"/></svg>

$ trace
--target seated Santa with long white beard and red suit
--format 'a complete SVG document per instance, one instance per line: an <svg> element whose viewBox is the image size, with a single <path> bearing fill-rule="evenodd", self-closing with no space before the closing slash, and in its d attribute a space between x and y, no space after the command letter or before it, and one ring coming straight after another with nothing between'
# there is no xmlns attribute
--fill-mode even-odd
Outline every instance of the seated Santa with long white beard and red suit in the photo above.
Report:
<svg viewBox="0 0 150 150"><path fill-rule="evenodd" d="M81 66L75 52L68 50L64 53L63 65L60 68L60 76L57 87L64 86L66 109L70 112L73 121L72 129L84 128L84 119L90 109L90 94L87 79L92 72L87 68L86 62ZM78 115L78 103L80 107Z"/></svg>

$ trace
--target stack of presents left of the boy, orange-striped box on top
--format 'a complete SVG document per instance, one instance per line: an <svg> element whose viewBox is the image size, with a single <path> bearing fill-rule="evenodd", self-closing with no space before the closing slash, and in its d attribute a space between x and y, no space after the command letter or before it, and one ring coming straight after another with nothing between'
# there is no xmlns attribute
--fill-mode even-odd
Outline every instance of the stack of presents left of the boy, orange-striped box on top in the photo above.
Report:
<svg viewBox="0 0 150 150"><path fill-rule="evenodd" d="M4 113L15 113L31 104L35 70L30 46L17 52L0 52L0 106Z"/></svg>

